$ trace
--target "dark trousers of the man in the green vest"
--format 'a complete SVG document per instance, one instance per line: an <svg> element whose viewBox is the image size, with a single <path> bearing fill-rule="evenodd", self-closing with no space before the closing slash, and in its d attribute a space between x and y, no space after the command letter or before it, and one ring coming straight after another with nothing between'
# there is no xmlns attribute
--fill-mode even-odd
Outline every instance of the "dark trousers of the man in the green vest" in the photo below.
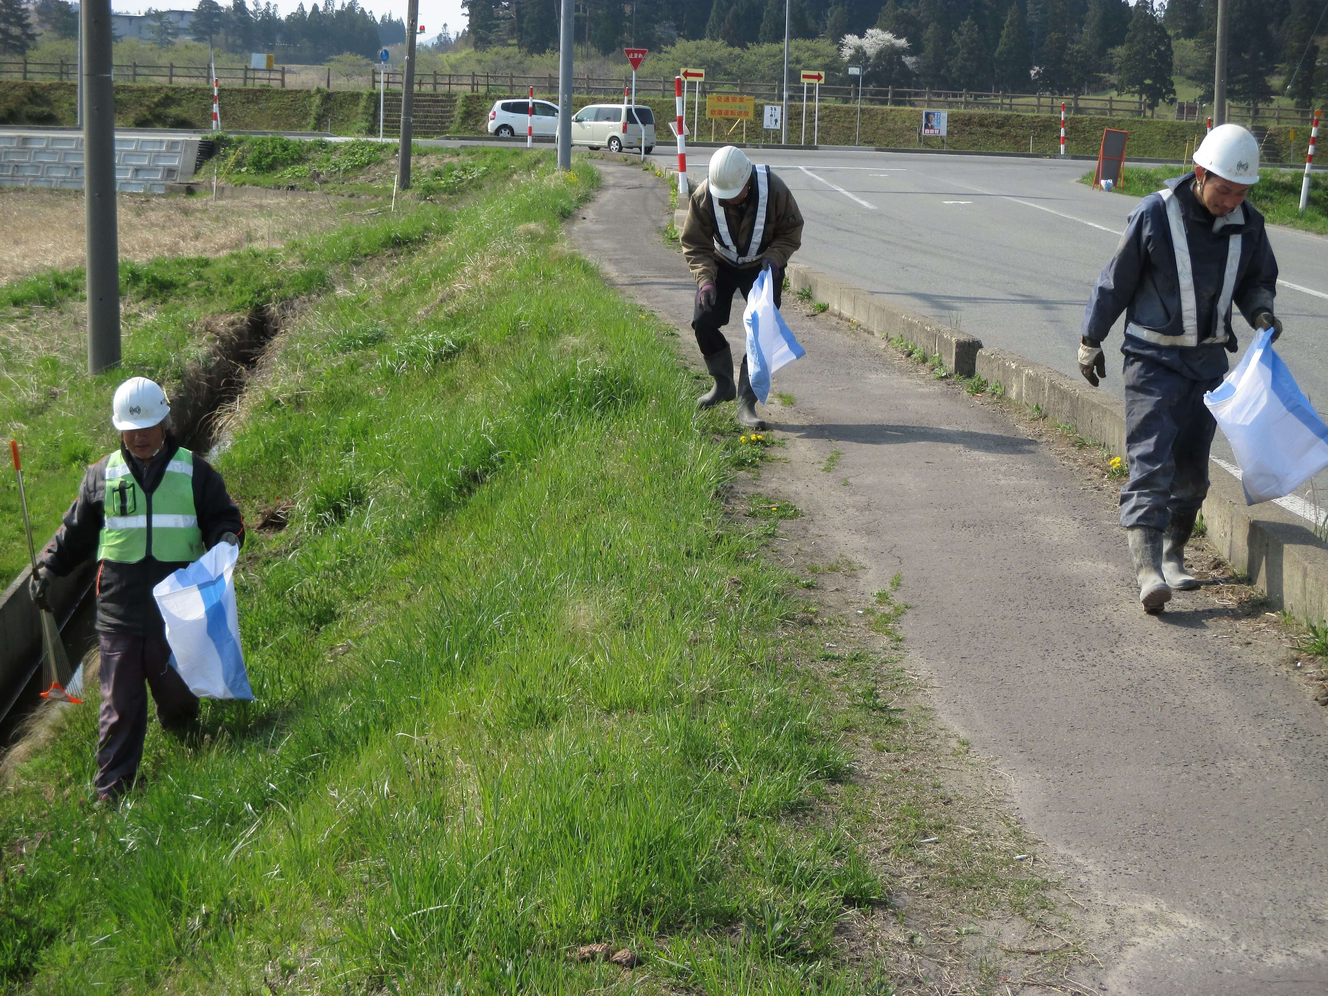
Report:
<svg viewBox="0 0 1328 996"><path fill-rule="evenodd" d="M98 633L101 637L101 736L97 741L97 794L127 791L143 760L147 736L147 688L157 718L166 729L187 726L198 716L198 699L166 661L165 636ZM143 683L147 683L147 688Z"/></svg>

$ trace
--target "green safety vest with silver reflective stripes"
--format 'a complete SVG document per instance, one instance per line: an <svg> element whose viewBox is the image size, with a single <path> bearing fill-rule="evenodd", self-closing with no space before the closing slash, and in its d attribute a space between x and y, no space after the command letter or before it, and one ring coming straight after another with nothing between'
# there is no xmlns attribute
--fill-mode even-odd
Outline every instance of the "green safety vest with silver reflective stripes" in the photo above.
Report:
<svg viewBox="0 0 1328 996"><path fill-rule="evenodd" d="M203 534L194 511L194 454L185 448L171 457L150 499L130 473L125 454L112 453L104 511L98 560L137 563L147 556L149 535L157 560L193 563L203 555Z"/></svg>

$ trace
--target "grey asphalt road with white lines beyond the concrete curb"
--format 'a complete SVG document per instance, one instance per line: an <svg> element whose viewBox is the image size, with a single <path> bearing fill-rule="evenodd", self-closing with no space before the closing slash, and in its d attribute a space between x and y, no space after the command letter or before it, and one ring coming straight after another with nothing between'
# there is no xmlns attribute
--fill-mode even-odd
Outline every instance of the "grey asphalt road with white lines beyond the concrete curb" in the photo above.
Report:
<svg viewBox="0 0 1328 996"><path fill-rule="evenodd" d="M797 262L988 347L1078 376L1084 305L1138 198L1092 190L1086 162L761 150L806 216ZM704 166L709 150L688 162ZM1126 166L1129 169L1129 166ZM1282 271L1278 351L1328 408L1328 239L1270 230ZM1295 284L1291 287L1289 284ZM1297 290L1304 288L1304 290ZM1113 331L1120 343L1123 320ZM1236 320L1242 345L1248 329ZM1120 365L1106 389L1122 396Z"/></svg>

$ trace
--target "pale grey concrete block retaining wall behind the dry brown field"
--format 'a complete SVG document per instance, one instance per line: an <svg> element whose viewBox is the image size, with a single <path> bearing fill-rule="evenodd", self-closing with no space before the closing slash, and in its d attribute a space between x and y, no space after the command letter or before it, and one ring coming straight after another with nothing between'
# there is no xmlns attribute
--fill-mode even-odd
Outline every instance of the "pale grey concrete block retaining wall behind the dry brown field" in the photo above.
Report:
<svg viewBox="0 0 1328 996"><path fill-rule="evenodd" d="M116 190L165 194L167 183L194 175L198 138L116 134ZM82 134L0 133L0 186L82 190Z"/></svg>

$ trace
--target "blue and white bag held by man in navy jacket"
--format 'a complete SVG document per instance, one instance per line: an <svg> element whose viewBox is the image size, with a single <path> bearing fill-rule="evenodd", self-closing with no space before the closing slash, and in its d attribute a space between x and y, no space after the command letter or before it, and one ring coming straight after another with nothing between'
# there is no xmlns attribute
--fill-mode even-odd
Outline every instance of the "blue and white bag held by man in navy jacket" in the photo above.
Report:
<svg viewBox="0 0 1328 996"><path fill-rule="evenodd" d="M1291 494L1328 467L1328 426L1260 329L1244 359L1203 396L1240 466L1246 505Z"/></svg>

